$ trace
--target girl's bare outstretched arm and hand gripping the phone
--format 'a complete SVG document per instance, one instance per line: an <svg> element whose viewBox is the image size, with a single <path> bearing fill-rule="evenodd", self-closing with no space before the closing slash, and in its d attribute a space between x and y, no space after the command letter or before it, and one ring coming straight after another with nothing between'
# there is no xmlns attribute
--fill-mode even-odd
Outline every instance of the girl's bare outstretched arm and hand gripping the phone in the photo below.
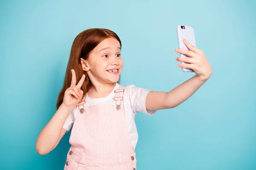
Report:
<svg viewBox="0 0 256 170"><path fill-rule="evenodd" d="M192 46L186 40L183 40L189 50L175 49L176 52L185 54L189 57L177 57L180 62L189 64L178 64L181 68L190 68L195 72L195 76L183 82L181 85L169 92L151 91L146 97L147 110L156 111L160 109L175 108L186 101L198 88L201 87L211 76L212 68L200 49Z"/></svg>

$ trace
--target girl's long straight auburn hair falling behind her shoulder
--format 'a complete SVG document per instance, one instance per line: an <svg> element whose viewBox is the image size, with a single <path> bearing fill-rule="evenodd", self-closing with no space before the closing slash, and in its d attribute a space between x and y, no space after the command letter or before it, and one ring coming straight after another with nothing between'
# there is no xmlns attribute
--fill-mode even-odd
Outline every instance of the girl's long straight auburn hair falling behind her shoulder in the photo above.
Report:
<svg viewBox="0 0 256 170"><path fill-rule="evenodd" d="M90 52L100 42L102 42L106 38L110 38L110 37L113 37L116 40L118 40L122 47L121 40L119 39L117 34L114 33L113 31L105 29L105 28L90 28L85 31L82 31L80 34L78 34L76 36L76 38L73 42L73 45L71 47L69 61L67 63L64 85L63 85L60 93L58 94L58 99L57 99L57 103L56 103L57 110L63 102L65 91L71 85L71 79L72 79L71 69L74 69L76 72L76 84L79 82L82 75L83 74L85 75L84 83L81 86L81 90L84 92L82 99L84 99L84 96L86 96L87 91L89 91L89 89L92 87L92 82L90 81L89 77L87 76L86 71L84 71L82 69L81 58L88 59Z"/></svg>

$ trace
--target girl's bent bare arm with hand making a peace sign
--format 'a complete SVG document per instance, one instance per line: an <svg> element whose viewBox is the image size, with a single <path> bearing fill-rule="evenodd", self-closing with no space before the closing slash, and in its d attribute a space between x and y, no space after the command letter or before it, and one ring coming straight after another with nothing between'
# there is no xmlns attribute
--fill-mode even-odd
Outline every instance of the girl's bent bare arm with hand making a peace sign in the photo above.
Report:
<svg viewBox="0 0 256 170"><path fill-rule="evenodd" d="M81 85L84 82L85 75L82 76L76 85L76 73L72 69L72 82L70 88L65 91L63 103L60 105L52 119L47 123L43 130L39 133L36 150L40 155L45 155L52 151L67 132L62 127L73 108L82 98L83 91Z"/></svg>

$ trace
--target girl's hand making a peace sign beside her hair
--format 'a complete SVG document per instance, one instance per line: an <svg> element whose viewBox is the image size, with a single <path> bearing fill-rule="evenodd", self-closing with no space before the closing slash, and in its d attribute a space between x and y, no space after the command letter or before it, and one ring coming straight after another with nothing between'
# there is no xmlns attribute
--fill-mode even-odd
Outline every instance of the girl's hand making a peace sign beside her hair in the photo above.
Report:
<svg viewBox="0 0 256 170"><path fill-rule="evenodd" d="M83 91L80 89L83 85L85 75L83 74L82 78L76 85L76 72L74 69L71 69L72 72L72 80L70 87L65 91L63 104L67 108L74 108L81 100L83 96Z"/></svg>

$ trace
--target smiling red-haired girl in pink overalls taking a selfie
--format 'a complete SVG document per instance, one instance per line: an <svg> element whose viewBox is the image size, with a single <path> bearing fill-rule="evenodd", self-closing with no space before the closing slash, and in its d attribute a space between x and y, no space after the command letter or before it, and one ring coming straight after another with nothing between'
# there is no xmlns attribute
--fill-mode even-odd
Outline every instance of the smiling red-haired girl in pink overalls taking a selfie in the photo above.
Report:
<svg viewBox="0 0 256 170"><path fill-rule="evenodd" d="M119 85L123 68L121 41L108 29L92 28L74 40L57 111L38 136L36 150L53 150L73 125L65 170L136 170L138 140L135 115L174 108L188 99L212 70L204 52L175 49L189 57L177 57L181 68L195 76L170 92L150 91L134 85Z"/></svg>

